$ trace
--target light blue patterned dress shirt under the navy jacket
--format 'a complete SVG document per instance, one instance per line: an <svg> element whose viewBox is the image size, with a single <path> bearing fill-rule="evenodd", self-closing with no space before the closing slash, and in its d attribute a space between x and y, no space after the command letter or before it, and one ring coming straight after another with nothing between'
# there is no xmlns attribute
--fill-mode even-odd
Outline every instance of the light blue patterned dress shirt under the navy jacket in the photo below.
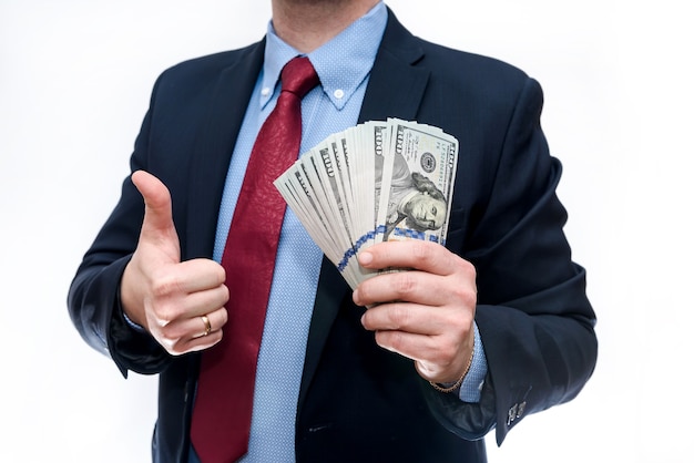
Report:
<svg viewBox="0 0 694 463"><path fill-rule="evenodd" d="M308 53L320 85L302 101L300 153L331 133L344 131L357 123L386 22L386 6L379 2L339 35ZM226 235L257 132L279 95L279 73L292 58L299 54L275 34L271 22L266 37L265 62L246 110L224 186L213 256L216 261L222 260ZM243 462L294 461L296 403L322 259L322 250L287 208L258 354L251 441ZM476 344L481 347L477 338ZM483 351L478 347L474 357L478 363L480 358L482 361L484 359ZM468 395L465 397L467 401L479 400L479 384L487 371L486 363L481 367L481 378L469 381L469 375L463 382L463 388L468 390ZM473 364L471 372L477 368ZM190 461L197 462L194 452L191 452Z"/></svg>

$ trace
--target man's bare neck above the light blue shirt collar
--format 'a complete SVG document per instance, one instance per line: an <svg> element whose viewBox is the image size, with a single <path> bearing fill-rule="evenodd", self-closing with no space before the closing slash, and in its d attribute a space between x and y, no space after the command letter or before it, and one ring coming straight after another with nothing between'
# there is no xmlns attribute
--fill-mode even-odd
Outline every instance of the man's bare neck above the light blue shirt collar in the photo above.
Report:
<svg viewBox="0 0 694 463"><path fill-rule="evenodd" d="M379 0L273 0L277 35L309 53L366 14Z"/></svg>

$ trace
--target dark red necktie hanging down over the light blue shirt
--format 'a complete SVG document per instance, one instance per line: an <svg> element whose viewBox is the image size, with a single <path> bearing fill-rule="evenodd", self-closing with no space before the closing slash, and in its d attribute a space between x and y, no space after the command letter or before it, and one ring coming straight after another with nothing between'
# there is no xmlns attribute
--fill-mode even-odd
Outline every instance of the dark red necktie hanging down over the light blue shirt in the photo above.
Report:
<svg viewBox="0 0 694 463"><path fill-rule="evenodd" d="M282 71L282 92L251 152L222 256L229 289L222 341L202 358L191 439L202 463L229 463L248 450L258 349L286 203L273 185L296 161L302 99L319 81L307 58Z"/></svg>

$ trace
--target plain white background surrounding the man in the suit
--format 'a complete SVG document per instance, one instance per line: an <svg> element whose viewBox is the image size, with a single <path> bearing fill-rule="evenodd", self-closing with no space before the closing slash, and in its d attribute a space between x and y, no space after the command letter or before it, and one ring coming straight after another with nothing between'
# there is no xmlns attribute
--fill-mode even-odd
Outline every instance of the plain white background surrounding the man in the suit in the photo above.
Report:
<svg viewBox="0 0 694 463"><path fill-rule="evenodd" d="M389 4L414 33L542 83L565 230L599 316L600 359L583 393L527 418L501 449L490 439L490 461L687 461L685 2ZM83 343L68 287L127 175L156 75L259 39L268 18L267 0L0 0L0 461L149 461L156 380L125 381Z"/></svg>

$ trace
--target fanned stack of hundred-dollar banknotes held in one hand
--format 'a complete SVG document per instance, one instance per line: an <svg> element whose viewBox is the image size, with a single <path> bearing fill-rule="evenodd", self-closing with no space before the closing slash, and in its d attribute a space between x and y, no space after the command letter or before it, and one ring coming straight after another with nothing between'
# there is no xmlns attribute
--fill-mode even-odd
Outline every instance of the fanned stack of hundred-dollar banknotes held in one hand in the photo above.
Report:
<svg viewBox="0 0 694 463"><path fill-rule="evenodd" d="M371 121L302 154L275 186L354 289L374 275L357 254L378 241L446 244L457 160L438 127Z"/></svg>

